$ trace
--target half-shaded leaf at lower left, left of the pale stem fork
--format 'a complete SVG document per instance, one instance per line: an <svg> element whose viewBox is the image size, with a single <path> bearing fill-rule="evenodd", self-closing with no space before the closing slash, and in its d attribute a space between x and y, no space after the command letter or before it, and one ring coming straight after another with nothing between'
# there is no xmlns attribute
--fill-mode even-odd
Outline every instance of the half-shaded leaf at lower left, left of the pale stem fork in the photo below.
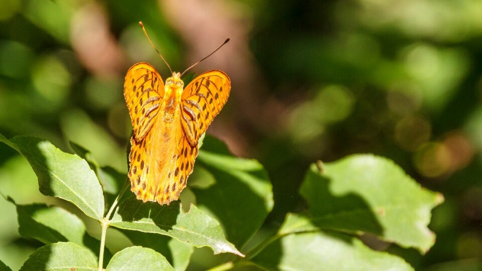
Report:
<svg viewBox="0 0 482 271"><path fill-rule="evenodd" d="M16 206L22 236L45 244L69 241L89 249L95 255L99 254L100 241L87 233L84 223L76 215L45 204ZM105 249L104 257L106 260L112 257L108 249Z"/></svg>

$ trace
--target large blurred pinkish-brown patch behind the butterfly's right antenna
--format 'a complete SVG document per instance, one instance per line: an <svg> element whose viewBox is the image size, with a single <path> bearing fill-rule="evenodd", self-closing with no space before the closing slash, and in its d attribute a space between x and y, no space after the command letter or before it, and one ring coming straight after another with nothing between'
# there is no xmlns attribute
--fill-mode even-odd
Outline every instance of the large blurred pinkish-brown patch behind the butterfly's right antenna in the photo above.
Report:
<svg viewBox="0 0 482 271"><path fill-rule="evenodd" d="M187 44L186 67L212 52L226 38L231 39L221 50L196 66L194 71L199 74L221 69L230 76L231 97L226 104L229 109L224 110L230 111L231 117L218 117L209 131L228 142L235 154L245 155L243 149L253 137L253 129L267 131L277 127L284 108L274 98L268 97L262 75L249 49L249 32L253 24L249 8L239 2L218 0L167 0L159 3L171 25Z"/></svg>

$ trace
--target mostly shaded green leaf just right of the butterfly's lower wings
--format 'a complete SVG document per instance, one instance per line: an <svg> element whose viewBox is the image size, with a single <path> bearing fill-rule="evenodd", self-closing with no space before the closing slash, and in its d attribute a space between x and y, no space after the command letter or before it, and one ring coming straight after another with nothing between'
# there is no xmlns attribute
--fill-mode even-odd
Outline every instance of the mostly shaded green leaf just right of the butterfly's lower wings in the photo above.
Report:
<svg viewBox="0 0 482 271"><path fill-rule="evenodd" d="M209 135L199 150L193 179L196 170L199 172L202 168L207 170L214 184L207 188L190 186L197 205L223 225L229 241L242 247L273 208L267 171L254 159L233 156L224 143Z"/></svg>

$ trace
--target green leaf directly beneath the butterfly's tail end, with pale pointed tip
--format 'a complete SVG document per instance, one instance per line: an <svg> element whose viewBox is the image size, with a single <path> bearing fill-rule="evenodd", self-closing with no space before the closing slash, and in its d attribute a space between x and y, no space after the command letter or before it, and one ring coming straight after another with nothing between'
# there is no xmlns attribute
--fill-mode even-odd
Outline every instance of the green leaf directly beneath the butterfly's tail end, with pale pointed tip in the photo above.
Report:
<svg viewBox="0 0 482 271"><path fill-rule="evenodd" d="M111 226L168 235L196 247L209 246L215 254L230 252L243 256L222 233L219 222L191 205L184 212L179 201L170 205L143 203L132 194L123 199L112 217Z"/></svg>

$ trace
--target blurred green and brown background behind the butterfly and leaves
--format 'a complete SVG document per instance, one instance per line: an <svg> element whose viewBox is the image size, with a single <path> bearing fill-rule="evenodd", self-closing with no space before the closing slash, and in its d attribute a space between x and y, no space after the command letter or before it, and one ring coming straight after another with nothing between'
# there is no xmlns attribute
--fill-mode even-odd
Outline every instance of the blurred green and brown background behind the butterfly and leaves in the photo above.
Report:
<svg viewBox="0 0 482 271"><path fill-rule="evenodd" d="M374 153L445 196L425 256L387 249L417 270L481 268L482 2L2 0L0 133L65 151L73 141L126 172L124 75L147 61L170 76L139 21L176 71L231 38L193 71L231 77L208 132L268 169L275 208L266 229L303 208L298 187L310 163ZM55 203L6 145L0 191L21 204ZM0 259L18 269L41 243L19 236L11 203L1 200L0 213ZM112 252L128 242L109 234Z"/></svg>

